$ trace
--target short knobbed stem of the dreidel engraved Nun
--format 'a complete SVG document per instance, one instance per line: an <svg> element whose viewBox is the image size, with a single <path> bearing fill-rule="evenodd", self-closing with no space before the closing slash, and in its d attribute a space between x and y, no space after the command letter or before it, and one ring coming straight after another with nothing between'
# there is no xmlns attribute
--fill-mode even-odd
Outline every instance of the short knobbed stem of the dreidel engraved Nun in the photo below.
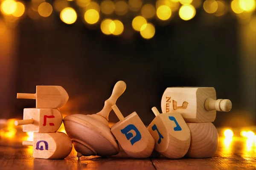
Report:
<svg viewBox="0 0 256 170"><path fill-rule="evenodd" d="M214 100L214 99L208 98L204 103L204 107L207 111L217 110L217 111L228 112L232 108L232 102L229 99Z"/></svg>

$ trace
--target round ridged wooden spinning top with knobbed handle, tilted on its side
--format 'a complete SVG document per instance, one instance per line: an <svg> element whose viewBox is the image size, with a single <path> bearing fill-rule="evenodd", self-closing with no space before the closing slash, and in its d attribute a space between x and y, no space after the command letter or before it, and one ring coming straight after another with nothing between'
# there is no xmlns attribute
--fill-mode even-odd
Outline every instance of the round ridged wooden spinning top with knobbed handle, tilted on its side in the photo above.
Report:
<svg viewBox="0 0 256 170"><path fill-rule="evenodd" d="M77 156L111 156L119 152L119 147L108 126L111 106L125 91L126 84L119 81L109 99L99 113L92 115L73 114L63 119L67 135L70 136Z"/></svg>

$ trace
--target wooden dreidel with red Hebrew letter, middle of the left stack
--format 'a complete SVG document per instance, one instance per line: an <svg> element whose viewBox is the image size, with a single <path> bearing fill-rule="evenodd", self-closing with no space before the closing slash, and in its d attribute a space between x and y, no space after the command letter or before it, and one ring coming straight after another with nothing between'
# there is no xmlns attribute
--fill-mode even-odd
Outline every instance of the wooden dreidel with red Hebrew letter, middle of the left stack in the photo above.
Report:
<svg viewBox="0 0 256 170"><path fill-rule="evenodd" d="M62 114L58 109L25 108L23 120L16 120L15 125L23 125L23 132L56 132L61 127Z"/></svg>

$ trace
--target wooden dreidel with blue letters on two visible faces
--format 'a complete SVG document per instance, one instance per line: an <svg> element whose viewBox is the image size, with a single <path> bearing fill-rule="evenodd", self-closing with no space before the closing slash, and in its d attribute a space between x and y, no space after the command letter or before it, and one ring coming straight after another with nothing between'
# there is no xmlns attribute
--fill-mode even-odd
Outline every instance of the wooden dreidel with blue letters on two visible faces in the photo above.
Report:
<svg viewBox="0 0 256 170"><path fill-rule="evenodd" d="M190 130L183 117L177 112L160 114L156 107L152 111L156 117L148 131L155 140L154 150L171 159L185 156L190 145Z"/></svg>

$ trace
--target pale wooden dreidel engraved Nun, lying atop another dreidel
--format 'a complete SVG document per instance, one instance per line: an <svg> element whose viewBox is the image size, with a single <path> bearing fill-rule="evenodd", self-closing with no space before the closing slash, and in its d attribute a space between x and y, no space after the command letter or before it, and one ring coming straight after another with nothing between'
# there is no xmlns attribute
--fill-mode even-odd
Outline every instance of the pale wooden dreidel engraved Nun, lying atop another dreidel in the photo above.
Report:
<svg viewBox="0 0 256 170"><path fill-rule="evenodd" d="M228 99L216 100L214 88L166 88L161 100L163 113L178 112L185 122L213 122L217 111L230 111Z"/></svg>

